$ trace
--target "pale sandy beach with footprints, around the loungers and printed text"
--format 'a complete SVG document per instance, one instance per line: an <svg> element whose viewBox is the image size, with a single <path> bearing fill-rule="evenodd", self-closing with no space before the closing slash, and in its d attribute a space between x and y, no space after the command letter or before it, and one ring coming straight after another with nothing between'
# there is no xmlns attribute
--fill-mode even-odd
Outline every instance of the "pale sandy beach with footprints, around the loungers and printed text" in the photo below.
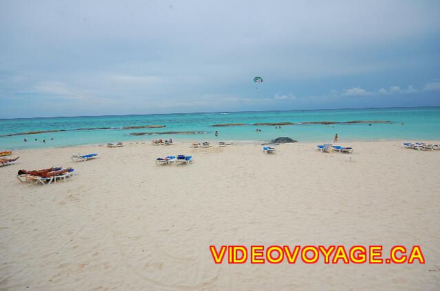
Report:
<svg viewBox="0 0 440 291"><path fill-rule="evenodd" d="M17 150L0 167L0 290L440 290L440 151L400 141ZM72 154L99 154L73 163ZM155 165L170 154L190 165ZM352 157L351 162L349 156ZM72 166L30 186L19 169ZM214 264L209 246L419 245L426 264Z"/></svg>

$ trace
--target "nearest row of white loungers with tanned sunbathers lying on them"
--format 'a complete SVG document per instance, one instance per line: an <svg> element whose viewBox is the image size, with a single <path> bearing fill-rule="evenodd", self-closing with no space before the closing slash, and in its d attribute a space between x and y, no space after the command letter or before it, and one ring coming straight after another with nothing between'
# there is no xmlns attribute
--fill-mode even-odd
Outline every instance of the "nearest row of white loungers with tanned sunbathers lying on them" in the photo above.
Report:
<svg viewBox="0 0 440 291"><path fill-rule="evenodd" d="M47 169L46 169L47 170ZM52 167L50 171L46 170L36 170L36 171L25 171L25 172L43 172L44 174L38 175L38 174L17 174L17 178L23 182L23 183L30 183L30 184L43 184L43 185L49 185L50 183L59 180L64 180L66 178L69 178L71 176L74 176L75 169L67 168L63 169L63 167ZM20 170L19 173L23 171Z"/></svg>

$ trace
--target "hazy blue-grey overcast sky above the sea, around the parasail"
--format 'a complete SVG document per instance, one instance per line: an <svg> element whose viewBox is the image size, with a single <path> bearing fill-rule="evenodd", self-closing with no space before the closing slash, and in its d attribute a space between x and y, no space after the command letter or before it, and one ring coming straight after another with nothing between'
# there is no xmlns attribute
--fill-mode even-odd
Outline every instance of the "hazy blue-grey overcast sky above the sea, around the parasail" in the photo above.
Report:
<svg viewBox="0 0 440 291"><path fill-rule="evenodd" d="M0 118L440 106L439 15L440 1L0 0Z"/></svg>

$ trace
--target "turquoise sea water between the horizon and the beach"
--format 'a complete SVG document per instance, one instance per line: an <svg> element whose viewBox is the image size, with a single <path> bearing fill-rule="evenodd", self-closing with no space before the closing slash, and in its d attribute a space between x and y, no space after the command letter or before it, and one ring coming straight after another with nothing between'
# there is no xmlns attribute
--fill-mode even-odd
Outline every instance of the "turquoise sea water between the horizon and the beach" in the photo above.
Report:
<svg viewBox="0 0 440 291"><path fill-rule="evenodd" d="M291 126L252 126L257 122L307 122L389 120L392 124L298 124ZM243 123L250 126L212 127L212 124ZM402 125L403 123L403 125ZM135 128L124 126L165 125L165 128ZM76 130L102 128L105 130ZM256 128L261 131L257 132ZM338 133L340 141L371 141L404 139L408 141L440 139L440 107L364 108L338 110L290 110L234 113L179 113L156 115L120 115L91 117L47 117L0 119L0 136L36 130L67 130L35 135L0 137L0 150L51 148L115 141L270 141L276 137L291 137L300 142L330 141ZM215 130L219 136L215 137ZM131 132L191 131L190 135L142 135ZM54 140L51 140L54 138ZM28 139L24 142L23 139ZM37 141L34 141L37 139ZM43 143L43 139L46 140Z"/></svg>

